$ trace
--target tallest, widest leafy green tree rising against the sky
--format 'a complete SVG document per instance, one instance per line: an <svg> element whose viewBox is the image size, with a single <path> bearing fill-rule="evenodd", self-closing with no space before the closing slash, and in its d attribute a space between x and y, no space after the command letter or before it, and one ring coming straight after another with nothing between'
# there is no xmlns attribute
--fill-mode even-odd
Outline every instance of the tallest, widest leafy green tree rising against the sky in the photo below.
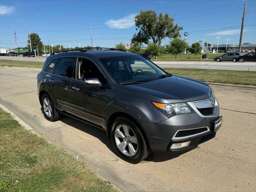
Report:
<svg viewBox="0 0 256 192"><path fill-rule="evenodd" d="M180 30L183 27L174 25L174 18L169 15L160 13L157 16L153 10L140 11L135 16L135 25L137 34L132 37L133 41L143 42L148 44L152 39L154 44L160 45L163 38L177 38L180 37Z"/></svg>

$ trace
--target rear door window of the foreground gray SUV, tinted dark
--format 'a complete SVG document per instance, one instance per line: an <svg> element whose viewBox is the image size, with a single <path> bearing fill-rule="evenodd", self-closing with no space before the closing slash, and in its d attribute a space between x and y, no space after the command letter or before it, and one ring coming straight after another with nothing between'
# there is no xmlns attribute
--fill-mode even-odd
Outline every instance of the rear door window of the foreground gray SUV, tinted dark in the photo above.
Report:
<svg viewBox="0 0 256 192"><path fill-rule="evenodd" d="M72 78L76 57L61 57L56 65L55 74Z"/></svg>

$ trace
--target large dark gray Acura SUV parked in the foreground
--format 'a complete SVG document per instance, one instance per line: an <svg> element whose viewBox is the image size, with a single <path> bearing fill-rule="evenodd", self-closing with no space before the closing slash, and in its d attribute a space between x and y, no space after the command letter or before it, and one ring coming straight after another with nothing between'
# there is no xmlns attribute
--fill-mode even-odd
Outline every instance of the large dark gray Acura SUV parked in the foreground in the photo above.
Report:
<svg viewBox="0 0 256 192"><path fill-rule="evenodd" d="M124 50L58 53L37 76L44 117L56 121L64 114L105 130L127 162L196 148L222 124L214 91L204 82Z"/></svg>

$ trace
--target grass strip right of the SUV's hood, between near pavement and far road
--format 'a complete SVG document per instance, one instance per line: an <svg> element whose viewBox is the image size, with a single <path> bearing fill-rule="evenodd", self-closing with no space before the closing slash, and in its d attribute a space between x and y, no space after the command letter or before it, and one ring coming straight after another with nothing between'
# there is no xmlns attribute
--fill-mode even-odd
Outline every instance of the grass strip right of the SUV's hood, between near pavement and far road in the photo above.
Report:
<svg viewBox="0 0 256 192"><path fill-rule="evenodd" d="M255 71L165 68L165 71L205 82L256 86Z"/></svg>

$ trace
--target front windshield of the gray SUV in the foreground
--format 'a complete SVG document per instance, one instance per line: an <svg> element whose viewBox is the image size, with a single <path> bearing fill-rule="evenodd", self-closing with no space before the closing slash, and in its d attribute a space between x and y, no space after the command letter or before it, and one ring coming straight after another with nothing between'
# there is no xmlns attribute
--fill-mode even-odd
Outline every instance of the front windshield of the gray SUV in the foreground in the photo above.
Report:
<svg viewBox="0 0 256 192"><path fill-rule="evenodd" d="M119 84L147 82L167 75L142 56L108 57L100 61Z"/></svg>

